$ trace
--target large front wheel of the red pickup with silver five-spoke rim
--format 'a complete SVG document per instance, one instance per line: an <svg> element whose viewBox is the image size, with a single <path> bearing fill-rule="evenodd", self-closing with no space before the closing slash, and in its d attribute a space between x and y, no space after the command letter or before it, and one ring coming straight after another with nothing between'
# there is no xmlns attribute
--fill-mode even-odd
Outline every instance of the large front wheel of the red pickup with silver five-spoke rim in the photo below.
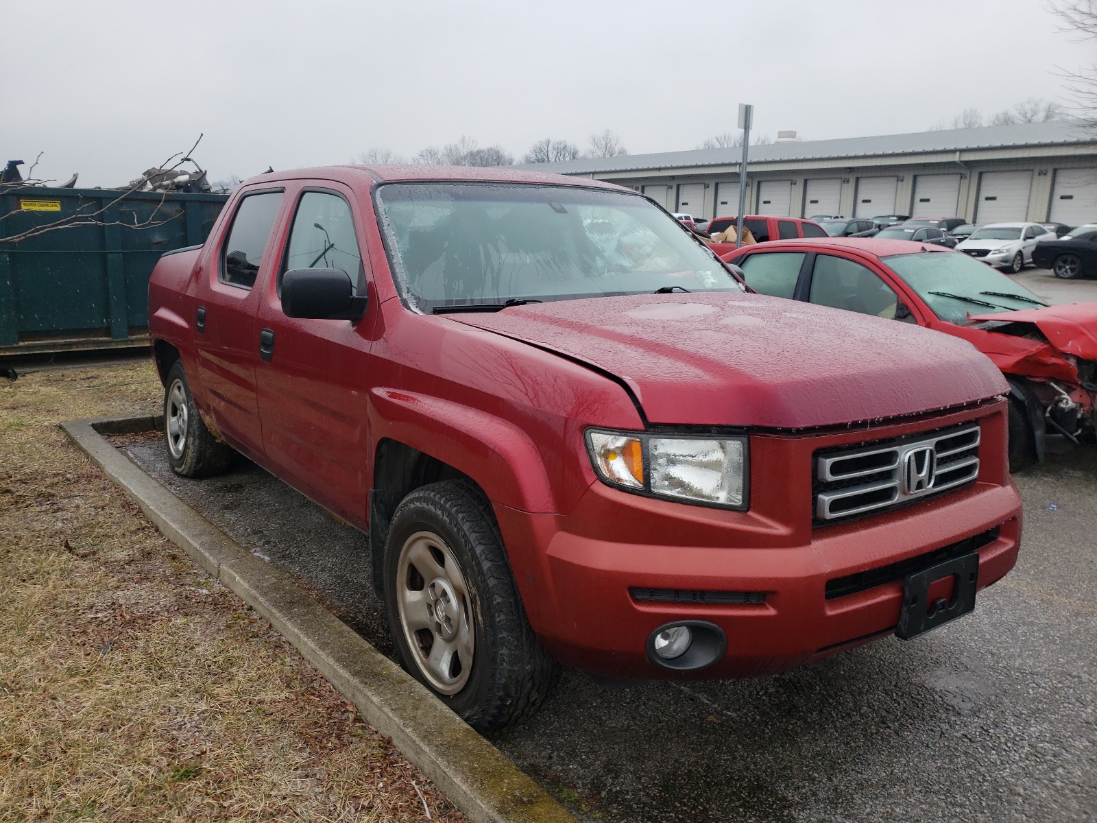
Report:
<svg viewBox="0 0 1097 823"><path fill-rule="evenodd" d="M422 486L396 507L385 609L404 669L477 731L530 717L559 678L525 619L490 504L468 481Z"/></svg>

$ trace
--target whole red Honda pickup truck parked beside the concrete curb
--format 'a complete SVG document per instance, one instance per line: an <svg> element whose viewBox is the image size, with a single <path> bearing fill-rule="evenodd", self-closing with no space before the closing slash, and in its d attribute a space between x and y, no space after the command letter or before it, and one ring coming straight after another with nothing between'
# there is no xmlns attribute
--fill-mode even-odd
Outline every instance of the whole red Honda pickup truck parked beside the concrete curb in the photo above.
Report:
<svg viewBox="0 0 1097 823"><path fill-rule="evenodd" d="M557 661L747 677L913 638L1017 559L989 360L749 293L614 185L263 174L149 318L173 469L235 450L367 532L402 664L480 730Z"/></svg>

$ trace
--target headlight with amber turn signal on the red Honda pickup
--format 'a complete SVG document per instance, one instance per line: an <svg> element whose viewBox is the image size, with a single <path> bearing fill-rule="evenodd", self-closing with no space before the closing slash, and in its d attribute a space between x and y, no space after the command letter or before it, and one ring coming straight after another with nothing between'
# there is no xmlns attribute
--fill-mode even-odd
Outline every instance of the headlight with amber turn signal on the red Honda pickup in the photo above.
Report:
<svg viewBox="0 0 1097 823"><path fill-rule="evenodd" d="M590 462L608 485L683 503L747 508L745 437L587 430Z"/></svg>

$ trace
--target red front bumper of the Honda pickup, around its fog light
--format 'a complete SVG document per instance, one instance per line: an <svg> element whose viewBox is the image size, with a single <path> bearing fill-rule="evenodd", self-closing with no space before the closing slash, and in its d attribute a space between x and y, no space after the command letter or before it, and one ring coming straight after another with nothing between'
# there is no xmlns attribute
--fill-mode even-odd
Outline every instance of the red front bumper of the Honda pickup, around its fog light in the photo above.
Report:
<svg viewBox="0 0 1097 823"><path fill-rule="evenodd" d="M1000 409L981 425L984 443L1004 442L1004 431L997 431L1005 425ZM986 540L977 549L980 588L1016 563L1020 499L1005 473L1004 455L983 455L973 485L905 509L814 529L810 512L806 522L771 517L770 504L780 498L779 508L787 510L789 495L795 499L804 489L803 475L798 472L799 481L767 489L757 485L759 466L770 472L792 469L804 455L810 466L817 441L751 439L750 511L638 498L600 483L591 485L567 516L496 506L523 602L542 643L569 665L611 677L772 674L894 632L901 579L839 596L832 591L829 598L828 582L834 588L838 578L977 535ZM789 465L774 462L779 446L791 447L784 449L792 452L785 459ZM810 476L806 481L810 494ZM672 589L685 593L687 600L644 599L638 596L643 589ZM690 593L714 591L764 597L760 602L688 599ZM727 638L726 653L699 672L668 672L654 664L645 643L653 631L676 620L719 627Z"/></svg>

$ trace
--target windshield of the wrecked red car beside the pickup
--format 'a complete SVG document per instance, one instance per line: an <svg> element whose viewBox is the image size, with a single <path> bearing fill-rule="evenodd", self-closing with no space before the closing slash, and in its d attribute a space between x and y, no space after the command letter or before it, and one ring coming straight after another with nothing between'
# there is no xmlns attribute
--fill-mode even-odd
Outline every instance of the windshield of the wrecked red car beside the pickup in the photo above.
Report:
<svg viewBox="0 0 1097 823"><path fill-rule="evenodd" d="M969 314L998 314L1048 305L1025 286L959 251L882 258L938 317L958 326Z"/></svg>

